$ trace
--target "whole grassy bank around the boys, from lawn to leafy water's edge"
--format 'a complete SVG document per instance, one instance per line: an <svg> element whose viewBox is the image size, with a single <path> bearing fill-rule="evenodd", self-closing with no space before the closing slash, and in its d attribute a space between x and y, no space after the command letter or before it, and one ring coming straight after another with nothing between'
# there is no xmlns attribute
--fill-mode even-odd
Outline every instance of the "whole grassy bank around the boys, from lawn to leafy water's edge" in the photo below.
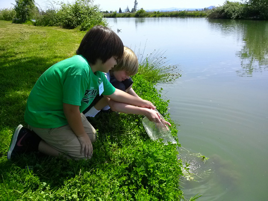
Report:
<svg viewBox="0 0 268 201"><path fill-rule="evenodd" d="M38 154L7 161L13 130L19 124L26 126L25 105L38 77L74 55L84 34L0 21L0 200L183 199L179 189L183 167L177 160L176 145L151 141L140 115L113 112L92 119L98 140L89 161ZM142 74L133 79L137 94L165 114L168 101L161 99L161 92ZM169 119L168 114L164 117Z"/></svg>

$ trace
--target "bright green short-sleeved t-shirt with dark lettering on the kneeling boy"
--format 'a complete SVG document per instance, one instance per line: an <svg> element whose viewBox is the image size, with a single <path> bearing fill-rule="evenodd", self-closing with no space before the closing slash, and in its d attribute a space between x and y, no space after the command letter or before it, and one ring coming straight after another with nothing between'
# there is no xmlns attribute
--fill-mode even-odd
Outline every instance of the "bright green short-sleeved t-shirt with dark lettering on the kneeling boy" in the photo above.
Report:
<svg viewBox="0 0 268 201"><path fill-rule="evenodd" d="M39 77L31 91L24 114L25 122L37 128L67 125L63 103L80 106L82 112L99 93L102 82L102 94L111 95L115 92L105 75L99 71L93 73L81 55L56 63Z"/></svg>

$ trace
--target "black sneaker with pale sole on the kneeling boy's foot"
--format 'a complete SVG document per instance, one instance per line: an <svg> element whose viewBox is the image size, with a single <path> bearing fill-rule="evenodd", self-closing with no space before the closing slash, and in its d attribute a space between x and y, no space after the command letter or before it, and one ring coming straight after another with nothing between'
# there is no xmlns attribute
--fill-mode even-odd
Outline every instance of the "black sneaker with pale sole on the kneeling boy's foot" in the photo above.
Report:
<svg viewBox="0 0 268 201"><path fill-rule="evenodd" d="M11 143L7 152L7 159L23 154L27 152L29 143L26 140L29 138L32 131L28 128L24 128L22 125L19 125L14 131L11 139Z"/></svg>

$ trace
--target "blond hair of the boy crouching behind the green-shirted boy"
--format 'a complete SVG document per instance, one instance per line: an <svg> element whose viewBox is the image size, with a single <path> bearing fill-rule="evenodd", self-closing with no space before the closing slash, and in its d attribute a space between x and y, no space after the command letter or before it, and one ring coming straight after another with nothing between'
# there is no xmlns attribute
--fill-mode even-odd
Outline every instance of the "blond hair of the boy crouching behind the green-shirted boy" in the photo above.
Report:
<svg viewBox="0 0 268 201"><path fill-rule="evenodd" d="M112 71L126 71L128 75L134 75L138 72L139 62L135 53L124 46L122 58L118 61Z"/></svg>

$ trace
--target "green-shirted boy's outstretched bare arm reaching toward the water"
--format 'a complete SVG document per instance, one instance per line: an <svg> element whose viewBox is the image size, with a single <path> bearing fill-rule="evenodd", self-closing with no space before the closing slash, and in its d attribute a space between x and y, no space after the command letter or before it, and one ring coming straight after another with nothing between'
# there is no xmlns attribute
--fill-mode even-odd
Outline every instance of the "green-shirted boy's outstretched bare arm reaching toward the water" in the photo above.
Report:
<svg viewBox="0 0 268 201"><path fill-rule="evenodd" d="M111 95L106 95L108 98L120 103L127 103L130 105L138 106L141 108L155 109L156 107L150 101L143 100L141 98L130 95L124 91L115 89L115 92Z"/></svg>

